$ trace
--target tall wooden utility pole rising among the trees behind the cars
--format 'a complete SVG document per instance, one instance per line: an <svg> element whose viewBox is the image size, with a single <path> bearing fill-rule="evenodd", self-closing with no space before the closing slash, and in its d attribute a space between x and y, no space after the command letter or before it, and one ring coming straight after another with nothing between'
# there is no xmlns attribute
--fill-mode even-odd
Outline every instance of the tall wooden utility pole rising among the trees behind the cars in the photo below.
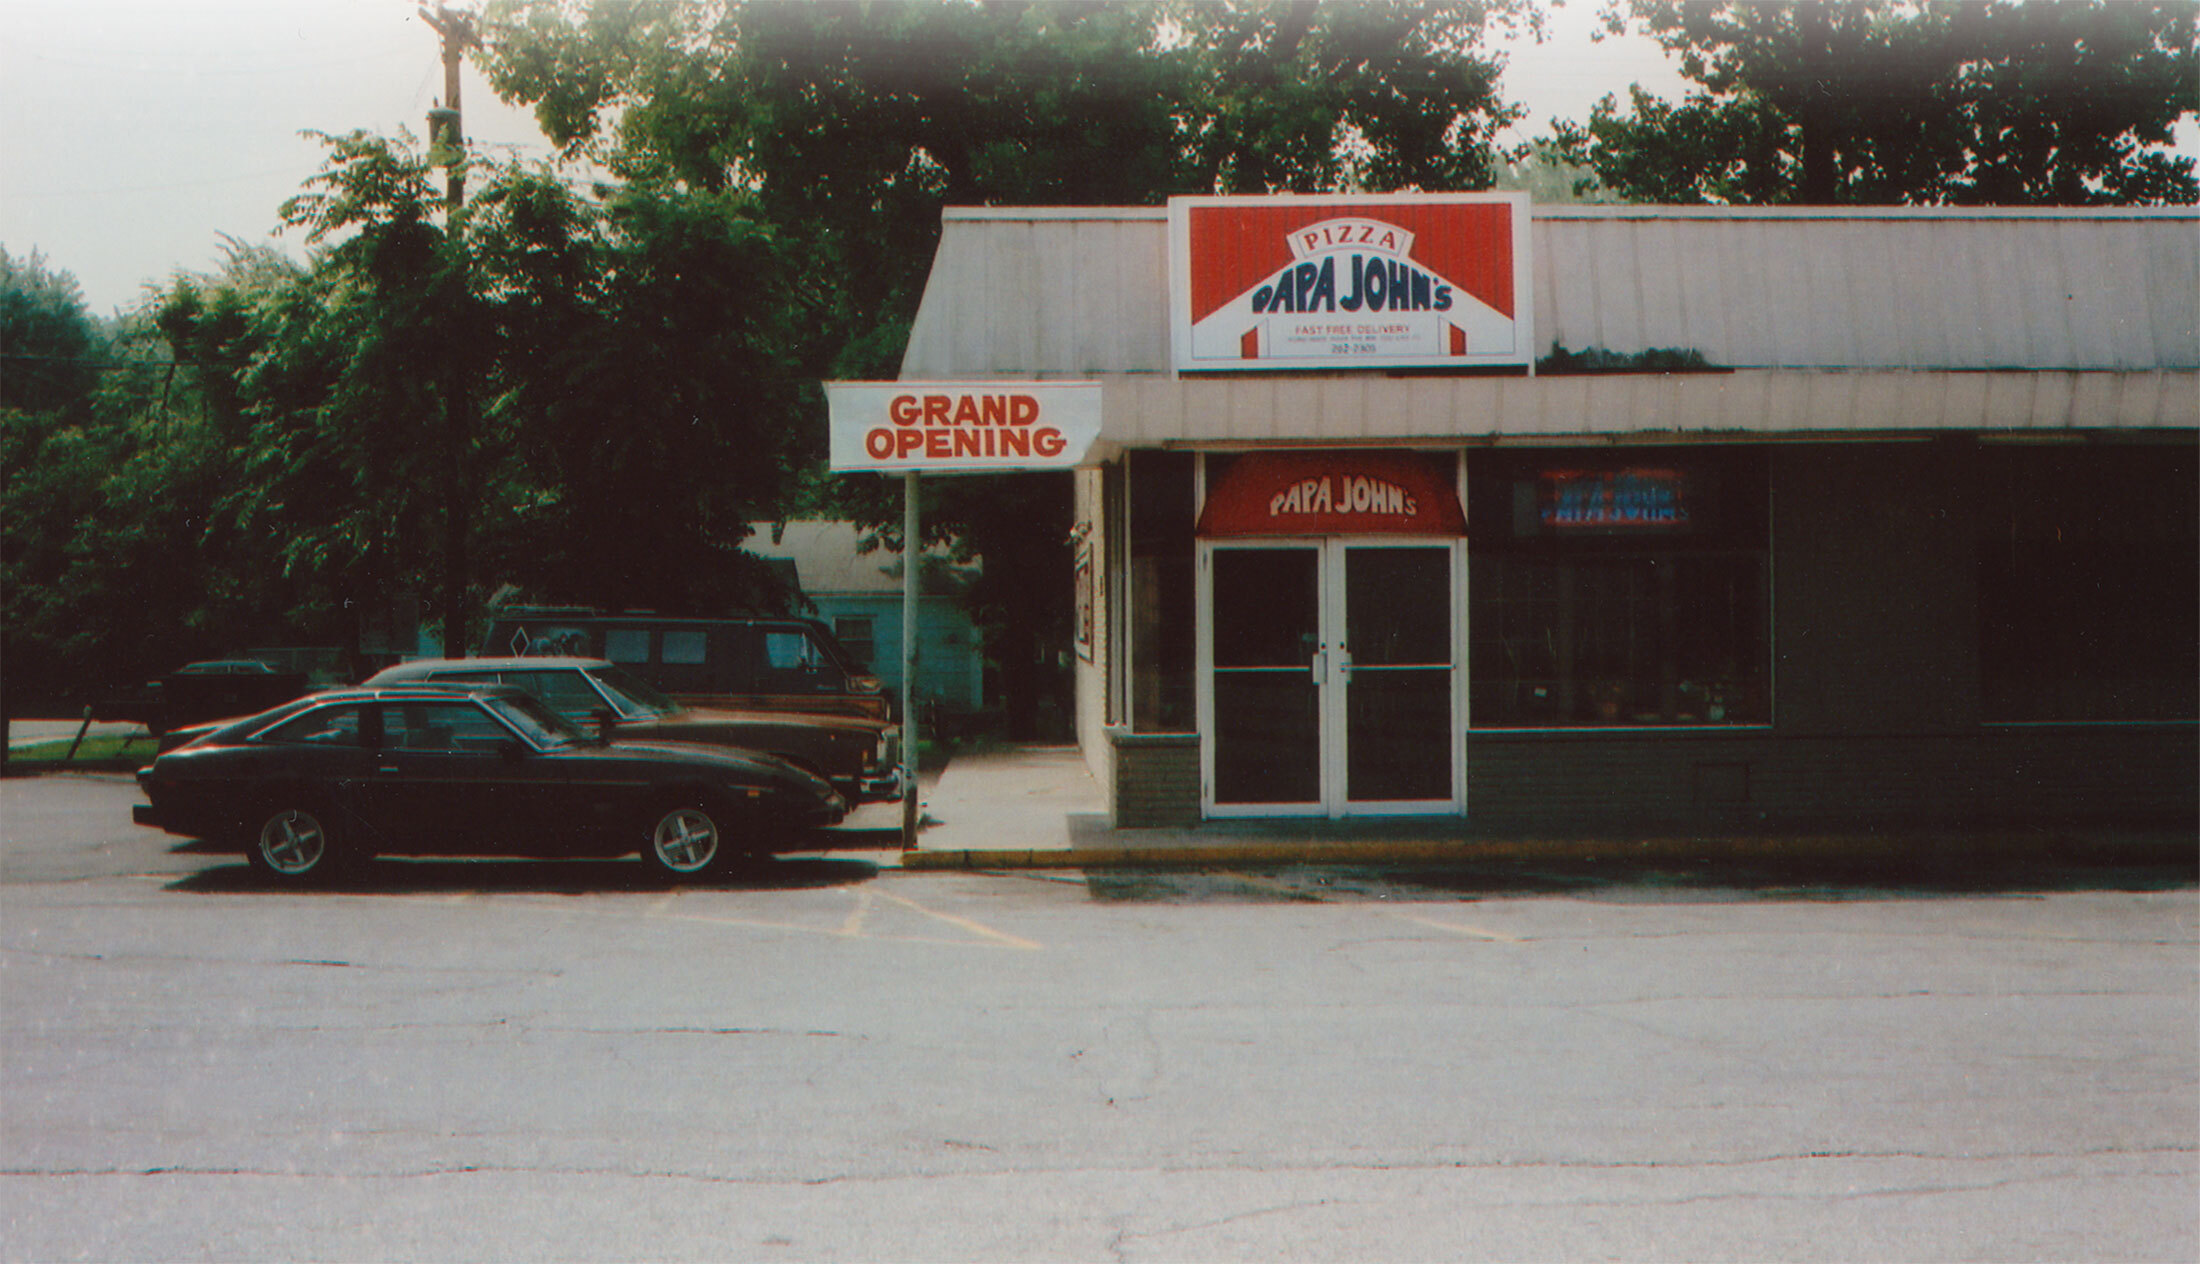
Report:
<svg viewBox="0 0 2200 1264"><path fill-rule="evenodd" d="M471 651L466 642L469 629L469 600L466 600L466 525L469 525L469 497L473 495L473 462L469 459L473 440L473 378L471 378L471 356L466 356L466 339L471 330L455 328L460 323L460 312L466 310L466 299L471 284L466 281L466 244L460 240L464 231L464 220L460 211L466 204L466 132L464 114L460 112L460 68L466 62L466 48L480 46L480 35L473 26L471 13L453 13L436 2L436 9L420 9L420 20L427 22L436 35L442 40L442 106L429 110L429 160L442 163L444 182L444 248L451 251L453 275L451 284L458 292L451 295L451 303L442 310L453 321L453 328L444 328L442 334L442 653L444 657L458 657Z"/></svg>

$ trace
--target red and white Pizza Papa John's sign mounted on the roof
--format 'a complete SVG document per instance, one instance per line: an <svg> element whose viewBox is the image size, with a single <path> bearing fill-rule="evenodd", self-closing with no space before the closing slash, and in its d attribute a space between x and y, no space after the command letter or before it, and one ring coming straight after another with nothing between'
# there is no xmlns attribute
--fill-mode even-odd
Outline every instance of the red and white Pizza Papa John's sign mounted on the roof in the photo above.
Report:
<svg viewBox="0 0 2200 1264"><path fill-rule="evenodd" d="M1170 198L1179 374L1529 365L1525 193Z"/></svg>

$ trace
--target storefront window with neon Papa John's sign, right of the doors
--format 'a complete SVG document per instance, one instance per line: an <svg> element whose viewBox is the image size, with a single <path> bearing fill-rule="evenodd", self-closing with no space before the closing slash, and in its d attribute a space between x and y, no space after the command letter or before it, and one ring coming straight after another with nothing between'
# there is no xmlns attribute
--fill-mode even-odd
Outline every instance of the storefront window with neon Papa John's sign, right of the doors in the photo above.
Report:
<svg viewBox="0 0 2200 1264"><path fill-rule="evenodd" d="M1756 453L1467 457L1474 728L1769 723Z"/></svg>

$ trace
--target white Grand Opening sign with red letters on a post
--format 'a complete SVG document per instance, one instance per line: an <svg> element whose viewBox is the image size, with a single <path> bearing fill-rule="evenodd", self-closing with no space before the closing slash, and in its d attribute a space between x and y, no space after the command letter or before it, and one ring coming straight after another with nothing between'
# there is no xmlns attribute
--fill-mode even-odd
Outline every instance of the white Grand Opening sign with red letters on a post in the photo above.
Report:
<svg viewBox="0 0 2200 1264"><path fill-rule="evenodd" d="M836 473L1067 470L1100 437L1098 382L825 382Z"/></svg>

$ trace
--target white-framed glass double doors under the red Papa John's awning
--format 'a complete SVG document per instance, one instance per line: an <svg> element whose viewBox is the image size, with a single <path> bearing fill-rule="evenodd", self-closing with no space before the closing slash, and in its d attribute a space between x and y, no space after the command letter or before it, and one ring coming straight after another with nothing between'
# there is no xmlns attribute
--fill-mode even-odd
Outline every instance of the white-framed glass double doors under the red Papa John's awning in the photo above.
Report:
<svg viewBox="0 0 2200 1264"><path fill-rule="evenodd" d="M1459 545L1201 545L1212 816L1456 811Z"/></svg>

